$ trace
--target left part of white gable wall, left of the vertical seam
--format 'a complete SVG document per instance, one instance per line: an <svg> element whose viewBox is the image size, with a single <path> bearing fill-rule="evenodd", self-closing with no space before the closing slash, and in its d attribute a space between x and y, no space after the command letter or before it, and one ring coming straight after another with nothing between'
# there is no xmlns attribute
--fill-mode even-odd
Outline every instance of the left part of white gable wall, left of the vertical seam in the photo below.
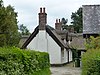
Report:
<svg viewBox="0 0 100 75"><path fill-rule="evenodd" d="M36 37L27 46L28 49L47 52L47 35L46 31L41 30Z"/></svg>

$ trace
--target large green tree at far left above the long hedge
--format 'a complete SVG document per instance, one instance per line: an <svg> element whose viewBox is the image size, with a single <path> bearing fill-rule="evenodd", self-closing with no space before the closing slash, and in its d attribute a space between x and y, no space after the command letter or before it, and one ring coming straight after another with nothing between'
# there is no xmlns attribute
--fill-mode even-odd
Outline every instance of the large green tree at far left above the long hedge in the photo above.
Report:
<svg viewBox="0 0 100 75"><path fill-rule="evenodd" d="M0 1L0 33L5 35L6 45L9 46L19 43L17 13L14 10L11 5L4 7L3 1Z"/></svg>

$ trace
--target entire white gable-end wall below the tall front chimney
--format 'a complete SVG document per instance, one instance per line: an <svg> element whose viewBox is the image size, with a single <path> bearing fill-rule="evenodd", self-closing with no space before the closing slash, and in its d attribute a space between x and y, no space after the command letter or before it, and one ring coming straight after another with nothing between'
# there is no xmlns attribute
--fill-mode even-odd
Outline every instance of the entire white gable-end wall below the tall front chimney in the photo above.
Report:
<svg viewBox="0 0 100 75"><path fill-rule="evenodd" d="M29 43L27 49L48 52L51 64L61 64L61 47L46 31L39 31L36 37Z"/></svg>

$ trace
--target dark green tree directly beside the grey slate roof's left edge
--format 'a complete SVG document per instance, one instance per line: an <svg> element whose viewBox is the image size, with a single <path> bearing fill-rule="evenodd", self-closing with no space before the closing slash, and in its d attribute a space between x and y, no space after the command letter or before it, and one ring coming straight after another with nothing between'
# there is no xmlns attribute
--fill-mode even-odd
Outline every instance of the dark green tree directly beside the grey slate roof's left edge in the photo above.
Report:
<svg viewBox="0 0 100 75"><path fill-rule="evenodd" d="M72 25L74 27L74 30L77 33L81 33L83 30L83 23L82 23L82 7L80 7L77 12L72 13L71 15L72 19Z"/></svg>

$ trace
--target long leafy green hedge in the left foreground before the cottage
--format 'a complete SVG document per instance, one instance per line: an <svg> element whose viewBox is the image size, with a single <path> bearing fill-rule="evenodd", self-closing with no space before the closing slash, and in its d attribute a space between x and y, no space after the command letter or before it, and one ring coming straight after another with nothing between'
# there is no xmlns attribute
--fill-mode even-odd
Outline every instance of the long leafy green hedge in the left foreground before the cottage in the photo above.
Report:
<svg viewBox="0 0 100 75"><path fill-rule="evenodd" d="M20 50L15 47L0 48L0 75L50 75L49 55L45 52Z"/></svg>

